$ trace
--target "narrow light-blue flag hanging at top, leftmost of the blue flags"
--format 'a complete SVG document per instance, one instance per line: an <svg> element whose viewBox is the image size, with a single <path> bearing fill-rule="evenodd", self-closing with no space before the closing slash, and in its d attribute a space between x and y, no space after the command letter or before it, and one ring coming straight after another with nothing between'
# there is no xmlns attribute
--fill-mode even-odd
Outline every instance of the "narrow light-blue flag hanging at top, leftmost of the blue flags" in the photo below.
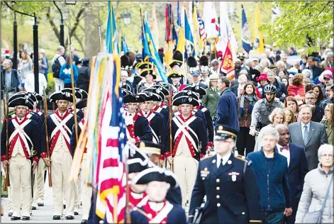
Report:
<svg viewBox="0 0 334 224"><path fill-rule="evenodd" d="M119 52L116 21L110 1L108 1L108 21L106 24L106 52L116 54Z"/></svg>

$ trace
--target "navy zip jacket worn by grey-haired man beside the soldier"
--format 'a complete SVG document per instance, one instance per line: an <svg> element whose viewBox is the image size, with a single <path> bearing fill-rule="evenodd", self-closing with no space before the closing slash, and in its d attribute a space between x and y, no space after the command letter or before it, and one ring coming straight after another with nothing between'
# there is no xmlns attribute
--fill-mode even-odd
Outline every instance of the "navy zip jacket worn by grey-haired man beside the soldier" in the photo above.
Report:
<svg viewBox="0 0 334 224"><path fill-rule="evenodd" d="M252 161L257 176L262 210L284 211L285 208L291 208L286 157L280 155L275 147L273 158L265 157L261 148L260 151L250 152L247 159Z"/></svg>

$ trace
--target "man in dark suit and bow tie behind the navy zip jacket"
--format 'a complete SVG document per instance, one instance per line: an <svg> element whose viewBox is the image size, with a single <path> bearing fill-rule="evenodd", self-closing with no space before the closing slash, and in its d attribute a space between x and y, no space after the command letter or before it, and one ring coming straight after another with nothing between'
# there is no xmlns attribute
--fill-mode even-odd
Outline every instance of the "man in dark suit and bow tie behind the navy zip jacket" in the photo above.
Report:
<svg viewBox="0 0 334 224"><path fill-rule="evenodd" d="M277 150L279 154L286 157L288 162L292 214L285 217L285 221L286 224L294 224L301 192L303 191L304 177L308 172L307 161L303 147L293 143L289 144L289 128L286 125L276 125L275 128L279 132L279 141L276 144Z"/></svg>

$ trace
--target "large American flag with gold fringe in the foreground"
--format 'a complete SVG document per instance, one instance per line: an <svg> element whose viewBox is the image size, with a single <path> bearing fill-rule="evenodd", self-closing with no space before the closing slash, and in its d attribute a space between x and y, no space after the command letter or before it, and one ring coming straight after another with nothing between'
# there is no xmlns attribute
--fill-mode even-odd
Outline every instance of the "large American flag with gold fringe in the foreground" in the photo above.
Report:
<svg viewBox="0 0 334 224"><path fill-rule="evenodd" d="M104 212L105 223L123 223L126 211L126 172L122 149L126 145L123 96L118 68L120 59L113 55L113 75L108 83L104 118L101 126L101 159L99 162L99 193L96 214ZM104 122L106 121L106 122ZM98 211L98 203L99 211ZM104 211L101 203L104 205ZM102 211L101 211L102 210Z"/></svg>

